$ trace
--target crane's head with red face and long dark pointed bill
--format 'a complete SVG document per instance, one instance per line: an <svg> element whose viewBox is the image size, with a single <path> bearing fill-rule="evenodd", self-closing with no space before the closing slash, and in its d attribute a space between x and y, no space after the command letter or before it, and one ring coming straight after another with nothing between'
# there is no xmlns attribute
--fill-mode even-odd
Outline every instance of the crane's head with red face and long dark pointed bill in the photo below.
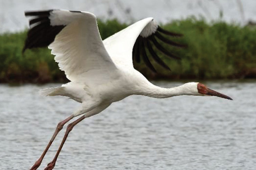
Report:
<svg viewBox="0 0 256 170"><path fill-rule="evenodd" d="M207 86L205 86L202 83L198 82L190 82L183 84L184 90L186 91L186 94L189 95L195 95L195 96L217 96L229 100L233 100L229 96L226 96L225 94L221 94L217 91L214 91L212 89L209 89Z"/></svg>

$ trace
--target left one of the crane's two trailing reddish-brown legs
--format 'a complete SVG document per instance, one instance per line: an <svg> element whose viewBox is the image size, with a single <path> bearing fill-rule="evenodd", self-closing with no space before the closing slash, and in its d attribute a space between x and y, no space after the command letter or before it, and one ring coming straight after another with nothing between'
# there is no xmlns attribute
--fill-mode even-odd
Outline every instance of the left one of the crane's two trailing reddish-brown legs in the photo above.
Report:
<svg viewBox="0 0 256 170"><path fill-rule="evenodd" d="M65 120L63 120L63 121L61 121L61 122L58 123L58 125L57 125L57 127L56 127L56 129L55 129L55 132L53 133L53 136L52 136L51 140L49 141L47 147L45 148L45 150L44 150L44 152L42 153L41 157L35 162L35 164L33 165L33 167L30 168L30 170L36 170L36 169L40 166L40 164L41 164L41 162L42 162L42 160L43 160L43 158L44 158L46 152L48 151L49 147L50 147L51 144L53 143L53 140L54 140L55 137L57 136L58 132L60 132L61 129L63 128L64 124L66 124L66 123L67 123L68 121L70 121L72 118L74 118L73 115L71 115L71 116L68 117L67 119L65 119Z"/></svg>

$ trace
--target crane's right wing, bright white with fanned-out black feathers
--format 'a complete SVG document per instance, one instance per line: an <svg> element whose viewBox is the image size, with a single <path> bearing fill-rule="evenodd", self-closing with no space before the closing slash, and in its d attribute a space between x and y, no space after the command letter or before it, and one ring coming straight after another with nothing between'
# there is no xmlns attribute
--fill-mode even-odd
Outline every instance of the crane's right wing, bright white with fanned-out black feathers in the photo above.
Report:
<svg viewBox="0 0 256 170"><path fill-rule="evenodd" d="M132 61L139 63L142 58L146 66L153 72L156 72L156 69L149 60L149 56L162 67L168 70L170 68L157 55L154 49L161 51L167 57L180 59L165 49L159 43L160 41L171 46L186 47L184 44L171 41L166 36L181 37L182 34L164 30L158 26L153 18L146 18L110 36L103 43L117 66L131 68L133 67Z"/></svg>

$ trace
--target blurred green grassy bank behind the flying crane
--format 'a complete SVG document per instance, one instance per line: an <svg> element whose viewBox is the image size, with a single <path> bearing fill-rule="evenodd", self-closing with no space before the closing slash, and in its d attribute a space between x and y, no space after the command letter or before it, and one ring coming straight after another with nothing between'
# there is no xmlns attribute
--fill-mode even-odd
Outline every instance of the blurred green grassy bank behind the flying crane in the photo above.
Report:
<svg viewBox="0 0 256 170"><path fill-rule="evenodd" d="M116 20L99 21L102 39L125 28ZM173 21L165 29L183 33L172 40L188 44L188 48L170 47L181 61L166 59L172 72L153 63L161 74L154 74L143 63L136 69L150 79L234 79L256 78L256 29L216 22L207 24L193 18ZM67 81L58 69L50 50L27 50L23 55L26 32L0 35L0 82L63 82Z"/></svg>

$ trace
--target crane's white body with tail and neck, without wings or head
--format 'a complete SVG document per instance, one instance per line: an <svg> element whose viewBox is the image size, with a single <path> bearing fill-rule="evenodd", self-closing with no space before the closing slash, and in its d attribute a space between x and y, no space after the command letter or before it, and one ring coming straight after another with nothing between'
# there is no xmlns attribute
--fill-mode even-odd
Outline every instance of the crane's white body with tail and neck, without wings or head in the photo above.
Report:
<svg viewBox="0 0 256 170"><path fill-rule="evenodd" d="M87 110L95 106L111 104L120 101L130 95L143 95L155 98L167 98L182 95L182 89L185 86L175 87L171 89L157 87L150 83L140 72L133 69L132 72L127 70L119 70L122 76L117 76L107 83L95 83L89 81L84 83L69 82L63 84L62 87L40 90L42 96L66 96L77 102L82 103L84 109ZM189 83L196 84L196 83ZM181 92L178 90L180 89ZM197 92L197 89L194 89ZM184 93L185 94L185 93ZM189 95L189 90L187 95ZM85 110L84 110L85 111ZM74 112L74 116L79 116ZM89 116L89 115L87 115Z"/></svg>

